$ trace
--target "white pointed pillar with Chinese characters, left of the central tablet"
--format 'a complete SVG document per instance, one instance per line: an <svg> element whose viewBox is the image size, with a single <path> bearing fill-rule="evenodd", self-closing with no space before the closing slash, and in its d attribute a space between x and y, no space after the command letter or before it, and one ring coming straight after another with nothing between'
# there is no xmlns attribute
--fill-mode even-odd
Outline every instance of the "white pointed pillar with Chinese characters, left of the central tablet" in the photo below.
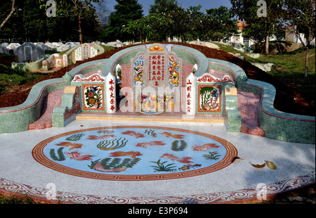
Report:
<svg viewBox="0 0 316 218"><path fill-rule="evenodd" d="M107 113L117 112L117 94L116 94L116 77L114 77L110 72L105 77L105 105L107 108Z"/></svg>

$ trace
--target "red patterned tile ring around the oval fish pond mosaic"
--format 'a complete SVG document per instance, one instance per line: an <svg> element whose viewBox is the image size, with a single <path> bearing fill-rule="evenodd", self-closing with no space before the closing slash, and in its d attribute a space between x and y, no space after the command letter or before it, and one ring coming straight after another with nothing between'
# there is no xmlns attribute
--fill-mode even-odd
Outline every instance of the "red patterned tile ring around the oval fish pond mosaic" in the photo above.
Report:
<svg viewBox="0 0 316 218"><path fill-rule="evenodd" d="M58 172L62 172L65 174L70 174L77 177L84 177L89 179L101 179L101 180L111 180L111 181L154 181L154 180L164 180L164 179L179 179L179 178L187 178L187 177L195 177L202 174L209 174L211 172L216 172L220 169L228 167L228 165L232 164L233 158L237 156L237 148L232 145L232 143L225 141L224 139L219 138L218 136L213 136L211 134L206 134L202 132L196 132L192 130L186 129L176 129L170 127L150 127L150 129L164 129L164 130L171 130L171 131L178 131L178 132L186 132L190 134L197 134L200 136L207 137L209 139L213 139L218 141L218 143L222 144L227 153L223 160L220 160L214 165L209 167L204 167L202 169L190 170L187 172L177 172L177 173L168 173L168 174L150 174L150 175L117 175L117 174L100 174L94 172L84 172L79 169L72 169L70 167L65 167L63 165L59 165L52 160L49 160L44 155L44 147L55 139L59 139L62 136L67 136L74 133L79 132L88 132L93 130L100 130L100 129L133 129L133 128L147 128L147 126L115 126L115 127L97 127L97 128L90 128L90 129L81 129L72 132L66 132L63 134L59 134L56 136L52 136L44 141L41 141L37 144L32 150L33 158L39 162L41 165L48 167L50 169L54 169Z"/></svg>

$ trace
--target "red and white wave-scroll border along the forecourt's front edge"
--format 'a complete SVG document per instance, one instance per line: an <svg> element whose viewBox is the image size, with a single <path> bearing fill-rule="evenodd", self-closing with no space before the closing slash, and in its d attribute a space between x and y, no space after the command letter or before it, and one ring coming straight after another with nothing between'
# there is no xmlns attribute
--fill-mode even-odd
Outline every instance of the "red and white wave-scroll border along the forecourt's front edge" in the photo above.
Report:
<svg viewBox="0 0 316 218"><path fill-rule="evenodd" d="M297 188L315 184L315 172L309 172L293 179L277 181L266 186L266 197L293 191ZM223 191L199 195L162 196L162 197L118 197L103 195L84 195L56 191L58 200L47 200L46 188L36 188L26 184L0 178L0 193L27 195L46 203L64 204L231 204L258 200L258 188L244 188L237 191Z"/></svg>

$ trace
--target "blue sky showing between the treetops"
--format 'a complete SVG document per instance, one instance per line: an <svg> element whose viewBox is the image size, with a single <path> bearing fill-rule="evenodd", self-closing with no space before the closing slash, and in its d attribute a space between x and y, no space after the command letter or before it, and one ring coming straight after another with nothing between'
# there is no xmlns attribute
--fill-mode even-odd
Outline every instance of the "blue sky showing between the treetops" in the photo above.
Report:
<svg viewBox="0 0 316 218"><path fill-rule="evenodd" d="M115 0L105 0L107 2L107 14L110 14L114 11L114 5L117 4ZM138 3L143 6L144 15L148 14L150 5L154 4L154 0L138 0ZM209 8L219 8L220 6L226 6L230 8L230 0L178 0L178 3L182 8L189 8L190 6L199 6L202 5L201 11L205 12Z"/></svg>

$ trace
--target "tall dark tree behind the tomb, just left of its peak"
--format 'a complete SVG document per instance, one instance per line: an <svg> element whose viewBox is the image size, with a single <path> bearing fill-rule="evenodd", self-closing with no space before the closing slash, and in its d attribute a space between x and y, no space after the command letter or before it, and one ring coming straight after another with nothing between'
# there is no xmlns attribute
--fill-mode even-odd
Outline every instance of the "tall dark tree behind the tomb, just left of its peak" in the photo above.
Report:
<svg viewBox="0 0 316 218"><path fill-rule="evenodd" d="M143 6L138 4L137 0L116 0L117 5L114 6L115 11L110 14L109 26L107 31L113 40L128 40L133 36L124 28L129 25L131 20L139 20L143 18Z"/></svg>

